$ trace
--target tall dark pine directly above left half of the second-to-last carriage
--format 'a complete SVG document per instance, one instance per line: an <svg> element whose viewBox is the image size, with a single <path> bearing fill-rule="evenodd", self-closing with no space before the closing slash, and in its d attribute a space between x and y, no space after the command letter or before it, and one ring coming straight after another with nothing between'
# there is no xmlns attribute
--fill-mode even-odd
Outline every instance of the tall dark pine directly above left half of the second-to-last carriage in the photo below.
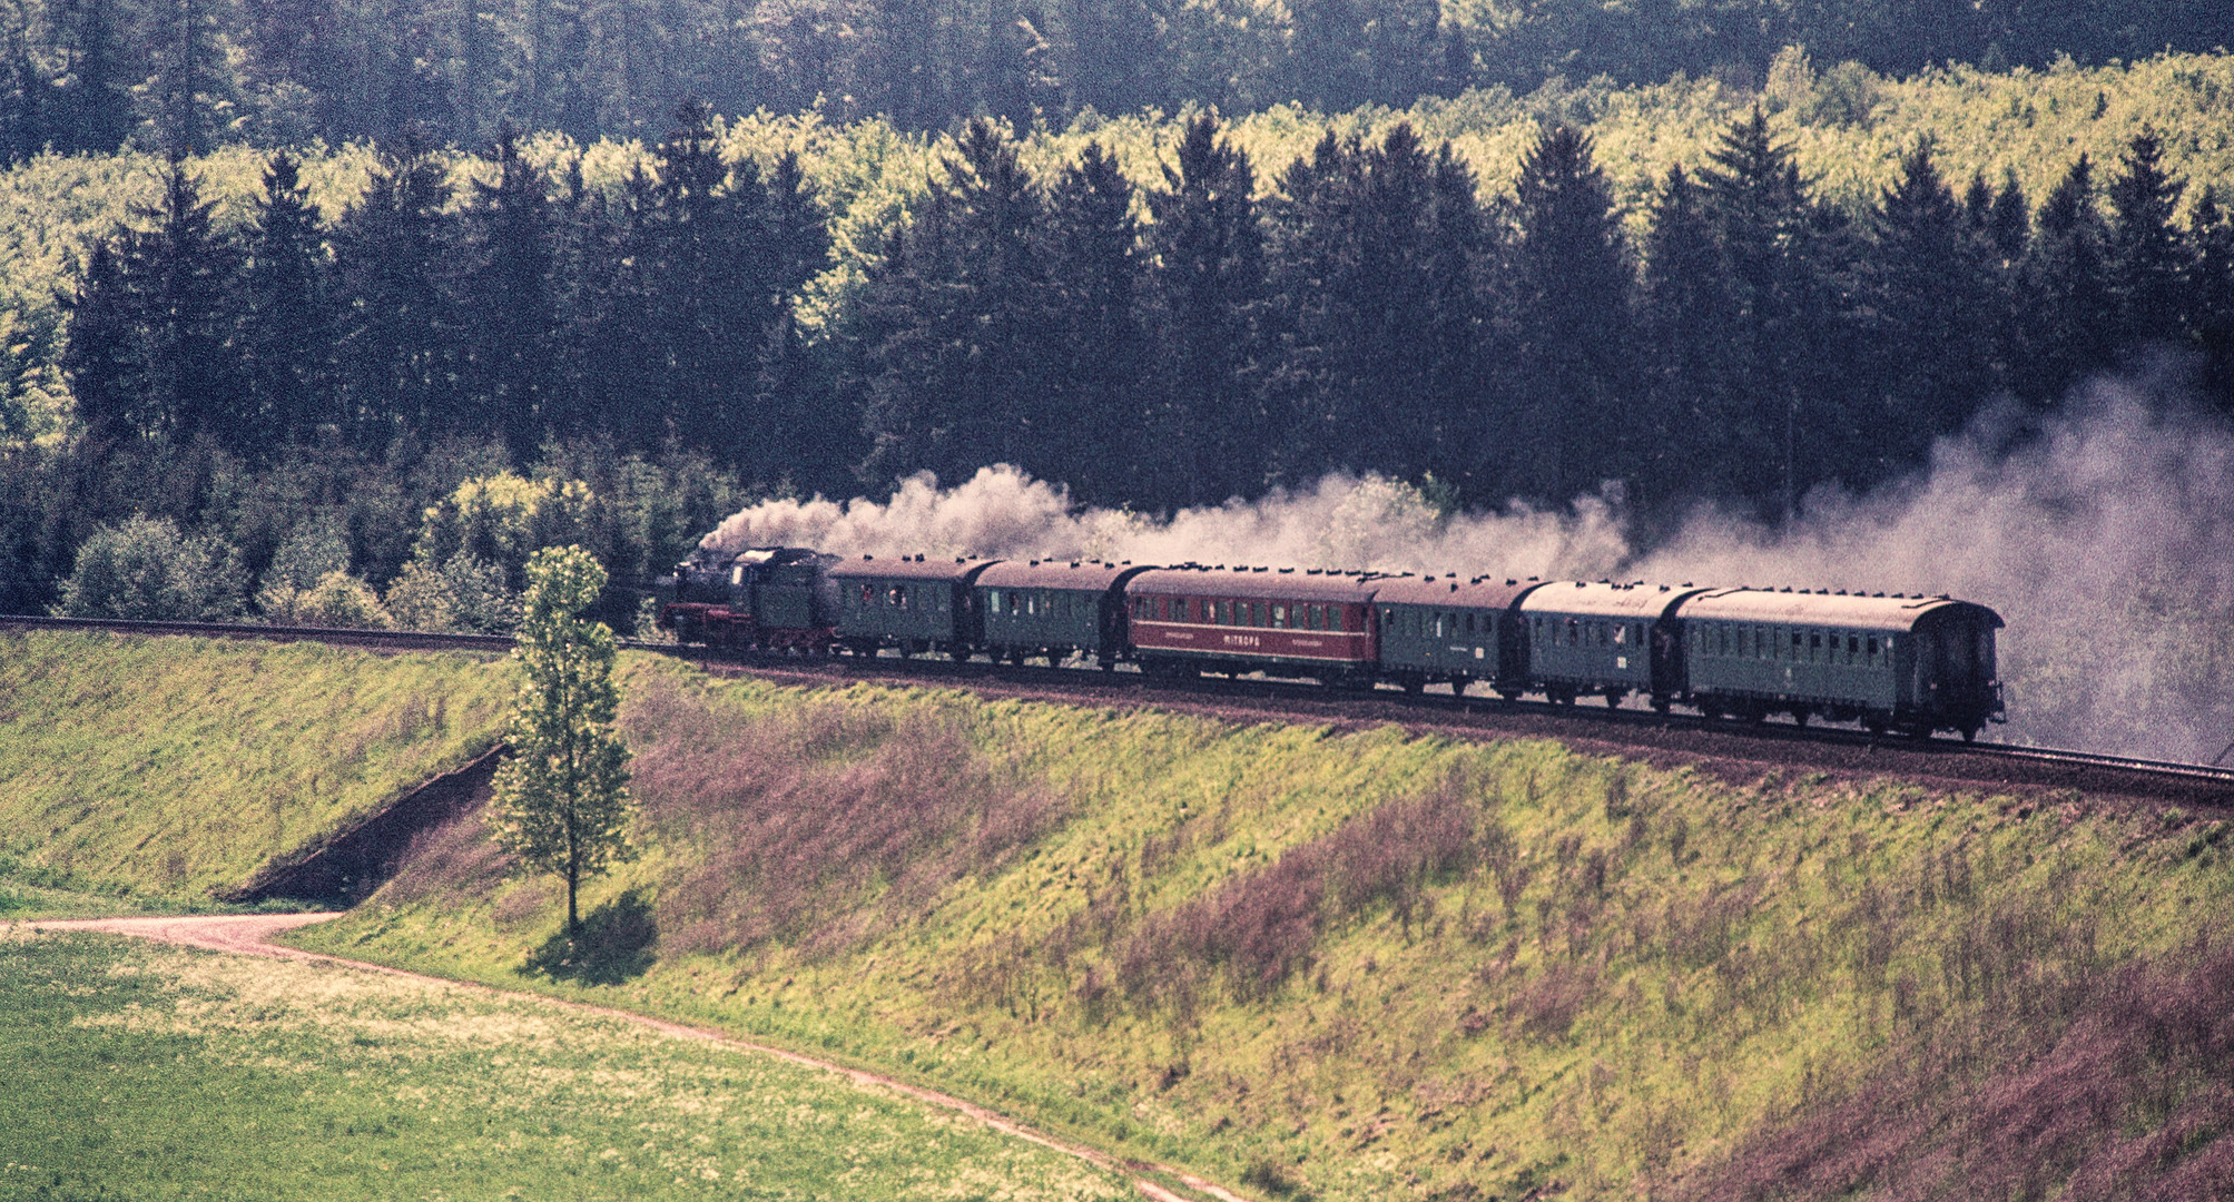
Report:
<svg viewBox="0 0 2234 1202"><path fill-rule="evenodd" d="M1519 369L1535 400L1528 494L1557 505L1620 474L1649 438L1631 433L1631 268L1588 134L1541 132L1521 159L1515 221Z"/></svg>

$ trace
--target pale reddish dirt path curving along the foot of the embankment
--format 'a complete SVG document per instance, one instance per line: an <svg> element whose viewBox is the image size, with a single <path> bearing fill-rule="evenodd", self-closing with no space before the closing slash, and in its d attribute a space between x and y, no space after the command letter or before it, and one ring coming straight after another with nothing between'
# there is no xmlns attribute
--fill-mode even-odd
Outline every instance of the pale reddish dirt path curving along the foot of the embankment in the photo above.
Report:
<svg viewBox="0 0 2234 1202"><path fill-rule="evenodd" d="M1209 1198L1215 1198L1218 1202L1247 1202L1244 1198L1240 1198L1240 1195L1235 1195L1235 1193L1231 1193L1226 1189L1220 1189L1220 1186L1215 1186L1211 1182L1204 1182L1202 1177L1195 1177L1191 1173L1182 1173L1180 1168L1171 1168L1168 1164L1121 1162L1121 1160L1117 1160L1117 1157L1113 1157L1108 1153L1101 1153L1097 1148L1088 1148L1083 1144L1070 1144L1066 1139L1057 1139L1052 1135L1032 1131L1030 1126L1023 1126L1021 1122L1016 1122L1016 1119L1012 1119L1008 1115L1001 1115L999 1110L987 1110L985 1106L978 1106L974 1101L963 1101L961 1097L945 1095L945 1093L938 1093L938 1090L927 1090L923 1086L909 1086L907 1081L896 1081L896 1079L885 1077L880 1072L865 1072L860 1068L849 1068L849 1066L833 1063L833 1061L827 1061L827 1059L806 1057L806 1055L800 1055L800 1052L793 1052L793 1050L786 1050L786 1048L775 1048L775 1046L768 1046L768 1043L753 1043L751 1039L735 1039L735 1037L722 1034L717 1030L693 1028L693 1025L684 1025L684 1023L670 1023L666 1019L652 1019L648 1014L634 1014L634 1012L628 1012L628 1010L614 1010L610 1005L588 1005L588 1003L581 1003L581 1001L565 1001L565 999L554 999L554 996L543 996L543 994L532 994L532 992L521 992L521 990L496 990L496 988L489 988L489 985L478 985L474 981L449 981L445 976L427 976L422 972L404 972L400 967L386 967L386 965L375 965L375 963L366 963L366 961L349 961L349 958L342 958L342 956L324 956L324 954L317 954L317 952L302 952L302 950L295 950L295 947L281 947L281 945L273 943L275 934L290 932L295 927L306 927L311 923L324 923L328 918L340 918L340 914L210 914L210 916L183 916L183 918L40 918L40 920L29 920L29 923L20 923L20 925L31 927L34 932L130 934L130 936L141 936L141 938L154 938L159 943L176 943L176 945L183 945L183 947L206 947L210 952L232 952L237 956L270 956L270 958L281 958L281 961L324 961L324 963L331 963L331 965L353 967L353 970L360 970L360 972L382 972L382 974L389 974L389 976L402 976L407 981L431 981L436 985L449 985L449 988L458 988L458 990L478 990L478 992L498 994L498 996L534 999L534 1001L543 1001L543 1003L550 1003L550 1005L561 1005L565 1010L574 1010L579 1014L599 1014L603 1019L621 1019L621 1021L628 1021L628 1023L652 1028L652 1030L657 1030L661 1034L668 1034L672 1039L693 1039L693 1041L710 1043L715 1048L726 1048L726 1050L733 1050L733 1052L753 1052L753 1055L762 1055L762 1057L775 1057L775 1059L784 1059L784 1061L791 1061L791 1063L800 1063L800 1066L806 1066L806 1068L820 1068L822 1072L836 1072L836 1075L853 1081L860 1088L878 1088L878 1090L896 1093L896 1095L903 1095L903 1097L911 1097L916 1101L923 1101L925 1106L938 1106L943 1110L954 1110L958 1115L967 1115L967 1117L972 1117L972 1119L976 1119L976 1122L981 1122L981 1124L985 1124L985 1126L990 1126L994 1131L1001 1131L1005 1135L1014 1135L1019 1139L1030 1139L1032 1144L1059 1151L1063 1155L1075 1155L1075 1157L1079 1157L1079 1160L1083 1160L1083 1162L1088 1162L1088 1164L1092 1164L1097 1168L1106 1168L1106 1171L1115 1171L1115 1173L1126 1173L1128 1177L1133 1177L1133 1186L1137 1186L1144 1195L1155 1198L1157 1202L1197 1202L1197 1200L1186 1198L1182 1193L1173 1193L1171 1189L1166 1189L1166 1186L1148 1180L1144 1173L1159 1173L1164 1177L1184 1182L1186 1189L1197 1191L1197 1193L1209 1195ZM16 923L9 923L9 925L13 927Z"/></svg>

